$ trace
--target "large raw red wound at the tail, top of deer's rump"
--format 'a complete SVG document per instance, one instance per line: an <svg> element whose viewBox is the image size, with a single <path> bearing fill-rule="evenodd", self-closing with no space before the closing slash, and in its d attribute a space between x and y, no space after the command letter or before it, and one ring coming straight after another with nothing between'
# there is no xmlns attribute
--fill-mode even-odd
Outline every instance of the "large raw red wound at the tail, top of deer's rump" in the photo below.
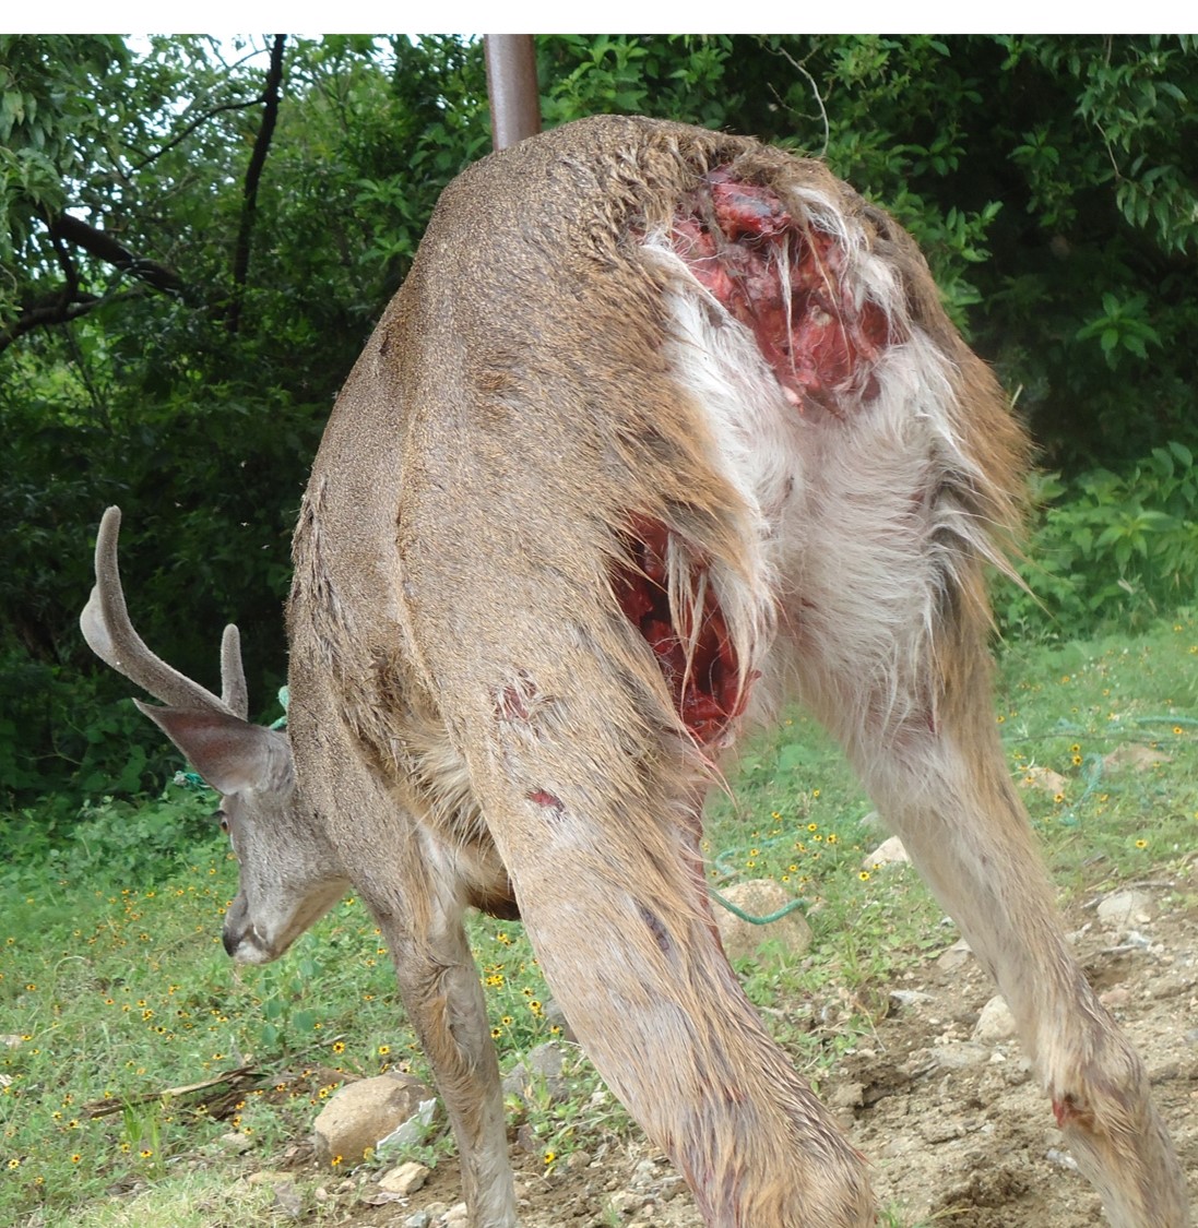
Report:
<svg viewBox="0 0 1198 1228"><path fill-rule="evenodd" d="M796 221L778 193L727 167L703 177L675 212L671 246L698 281L752 330L786 399L838 413L877 395L872 367L888 340L876 303L854 303L834 235Z"/></svg>

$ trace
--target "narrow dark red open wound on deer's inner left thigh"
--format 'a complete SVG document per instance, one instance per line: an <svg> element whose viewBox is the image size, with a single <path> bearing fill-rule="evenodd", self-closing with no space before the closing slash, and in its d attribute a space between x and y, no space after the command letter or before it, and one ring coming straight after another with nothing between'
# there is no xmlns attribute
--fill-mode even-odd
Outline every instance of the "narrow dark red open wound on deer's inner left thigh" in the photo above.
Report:
<svg viewBox="0 0 1198 1228"><path fill-rule="evenodd" d="M689 612L671 609L670 530L659 521L635 515L629 528L627 561L613 564L612 588L628 621L652 648L682 723L700 745L709 745L745 701L724 612L713 586L704 583L705 569L693 561L689 587L702 592L702 600ZM697 625L691 625L693 620Z"/></svg>

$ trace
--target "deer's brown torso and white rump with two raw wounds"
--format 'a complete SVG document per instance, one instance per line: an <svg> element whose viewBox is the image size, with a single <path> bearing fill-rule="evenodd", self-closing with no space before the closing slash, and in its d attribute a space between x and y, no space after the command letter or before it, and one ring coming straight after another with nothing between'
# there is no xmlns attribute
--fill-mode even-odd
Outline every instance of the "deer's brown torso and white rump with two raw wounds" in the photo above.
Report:
<svg viewBox="0 0 1198 1228"><path fill-rule="evenodd" d="M517 798L643 833L623 788L692 833L719 752L795 689L842 739L918 742L931 641L985 623L1022 456L918 249L821 165L611 117L484 158L313 467L300 774L348 723L419 823L478 852L466 898L507 911L530 894ZM358 684L308 718L329 674Z"/></svg>

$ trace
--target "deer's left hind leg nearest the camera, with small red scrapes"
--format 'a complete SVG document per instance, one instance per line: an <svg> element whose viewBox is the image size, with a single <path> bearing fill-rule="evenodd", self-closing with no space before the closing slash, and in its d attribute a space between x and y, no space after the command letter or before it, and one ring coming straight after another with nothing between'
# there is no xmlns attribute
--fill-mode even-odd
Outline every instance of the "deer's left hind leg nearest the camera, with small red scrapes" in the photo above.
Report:
<svg viewBox="0 0 1198 1228"><path fill-rule="evenodd" d="M575 657L573 675L536 679L553 696L536 715L467 731L474 788L555 1001L707 1224L872 1224L860 1158L724 954L693 781L689 792L665 783L660 745L635 753L614 668L580 669Z"/></svg>

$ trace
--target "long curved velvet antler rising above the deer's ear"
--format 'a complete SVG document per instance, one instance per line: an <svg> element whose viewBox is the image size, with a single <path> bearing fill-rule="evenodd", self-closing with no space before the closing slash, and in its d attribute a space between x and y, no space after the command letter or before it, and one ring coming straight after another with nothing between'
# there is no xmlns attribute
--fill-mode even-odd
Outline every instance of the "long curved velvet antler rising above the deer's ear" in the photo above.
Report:
<svg viewBox="0 0 1198 1228"><path fill-rule="evenodd" d="M109 507L96 534L96 587L79 616L79 626L92 652L117 673L147 690L156 700L171 707L216 709L236 716L227 700L192 682L165 661L156 657L133 629L117 566L117 537L120 532L120 508ZM241 674L245 691L245 675ZM233 699L236 686L229 688Z"/></svg>

